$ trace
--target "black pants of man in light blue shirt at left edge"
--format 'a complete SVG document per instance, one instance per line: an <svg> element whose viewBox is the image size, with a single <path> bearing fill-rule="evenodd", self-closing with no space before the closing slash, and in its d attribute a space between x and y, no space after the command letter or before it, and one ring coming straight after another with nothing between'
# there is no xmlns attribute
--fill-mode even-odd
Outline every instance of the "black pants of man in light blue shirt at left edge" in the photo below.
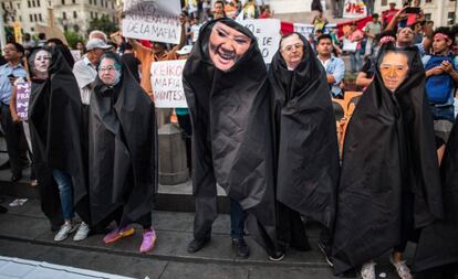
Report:
<svg viewBox="0 0 458 279"><path fill-rule="evenodd" d="M4 104L1 104L1 127L4 131L4 140L7 141L11 173L15 176L20 176L22 175L21 158L25 157L27 153L23 144L25 136L22 129L22 124L14 124L12 121L10 107Z"/></svg>

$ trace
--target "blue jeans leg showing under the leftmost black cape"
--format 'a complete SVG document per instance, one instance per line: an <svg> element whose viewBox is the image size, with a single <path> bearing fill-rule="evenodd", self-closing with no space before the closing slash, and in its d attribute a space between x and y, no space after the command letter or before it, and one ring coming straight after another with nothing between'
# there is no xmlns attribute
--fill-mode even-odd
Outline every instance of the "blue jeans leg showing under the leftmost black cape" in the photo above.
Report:
<svg viewBox="0 0 458 279"><path fill-rule="evenodd" d="M58 183L59 186L59 195L61 196L63 217L65 221L70 221L73 218L72 178L69 174L56 169L52 171L52 175L54 176L55 183Z"/></svg>

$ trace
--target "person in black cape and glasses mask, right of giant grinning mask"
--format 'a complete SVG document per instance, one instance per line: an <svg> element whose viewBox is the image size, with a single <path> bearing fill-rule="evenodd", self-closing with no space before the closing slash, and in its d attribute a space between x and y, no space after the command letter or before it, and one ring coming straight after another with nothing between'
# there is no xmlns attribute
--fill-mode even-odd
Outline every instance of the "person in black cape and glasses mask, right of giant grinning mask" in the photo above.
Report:
<svg viewBox="0 0 458 279"><path fill-rule="evenodd" d="M330 254L339 180L339 146L326 74L304 36L284 35L269 68L275 97L278 237L310 249L301 214L325 226Z"/></svg>

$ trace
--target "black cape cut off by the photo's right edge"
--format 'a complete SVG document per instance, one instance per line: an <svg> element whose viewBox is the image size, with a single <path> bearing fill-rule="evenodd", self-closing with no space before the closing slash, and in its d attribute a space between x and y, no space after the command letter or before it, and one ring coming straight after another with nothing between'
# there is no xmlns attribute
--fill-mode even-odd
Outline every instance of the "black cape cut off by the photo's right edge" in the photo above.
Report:
<svg viewBox="0 0 458 279"><path fill-rule="evenodd" d="M445 219L421 230L413 270L458 262L458 120L455 121L440 165Z"/></svg>

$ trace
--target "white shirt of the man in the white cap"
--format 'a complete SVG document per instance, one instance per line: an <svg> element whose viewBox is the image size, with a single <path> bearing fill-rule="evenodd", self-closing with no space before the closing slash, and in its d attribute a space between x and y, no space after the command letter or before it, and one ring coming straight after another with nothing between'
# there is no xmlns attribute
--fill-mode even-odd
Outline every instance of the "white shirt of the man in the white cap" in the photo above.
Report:
<svg viewBox="0 0 458 279"><path fill-rule="evenodd" d="M92 65L87 56L84 55L82 60L73 65L73 75L75 76L77 86L80 87L81 101L84 105L90 105L92 89L89 85L95 81L95 77L97 77L97 69L94 65Z"/></svg>

